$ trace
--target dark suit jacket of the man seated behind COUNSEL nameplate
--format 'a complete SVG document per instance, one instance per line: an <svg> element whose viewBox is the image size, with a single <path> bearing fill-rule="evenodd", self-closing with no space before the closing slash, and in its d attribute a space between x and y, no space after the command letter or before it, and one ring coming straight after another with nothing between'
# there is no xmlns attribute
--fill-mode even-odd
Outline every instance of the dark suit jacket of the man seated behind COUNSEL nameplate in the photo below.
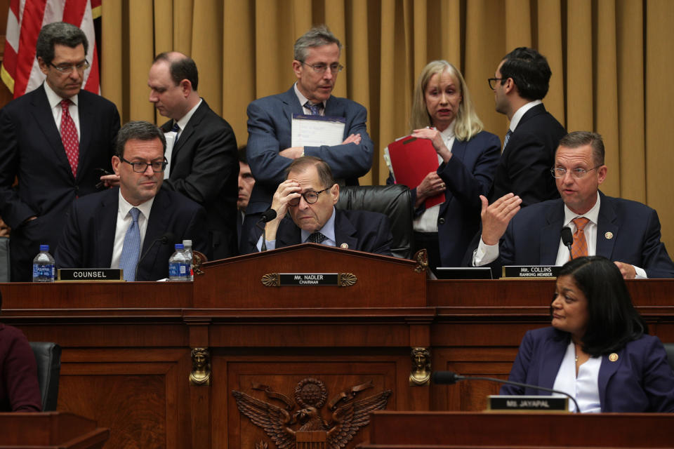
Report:
<svg viewBox="0 0 674 449"><path fill-rule="evenodd" d="M56 266L110 268L118 208L118 188L74 201L54 257ZM152 246L152 242L166 232L172 232L175 240ZM145 255L150 246L152 249L140 261L136 280L157 281L169 277L173 245L183 243L184 239L192 240L192 249L211 257L204 208L162 187L152 203L140 254Z"/></svg>

